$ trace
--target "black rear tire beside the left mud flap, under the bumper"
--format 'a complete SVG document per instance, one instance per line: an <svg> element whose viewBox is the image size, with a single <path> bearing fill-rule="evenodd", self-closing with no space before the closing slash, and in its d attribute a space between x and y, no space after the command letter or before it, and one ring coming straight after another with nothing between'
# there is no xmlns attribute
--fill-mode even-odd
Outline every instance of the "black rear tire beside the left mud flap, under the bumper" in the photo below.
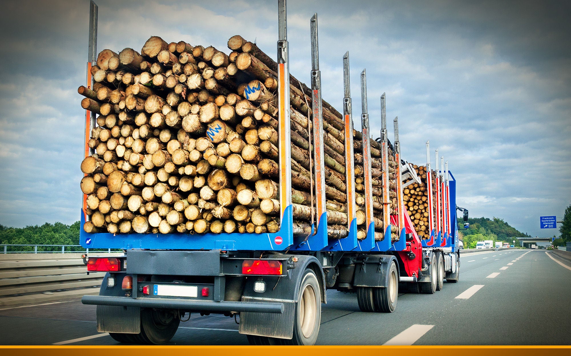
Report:
<svg viewBox="0 0 571 356"><path fill-rule="evenodd" d="M144 343L165 343L175 335L179 324L180 319L171 310L141 309L141 332L138 335Z"/></svg>

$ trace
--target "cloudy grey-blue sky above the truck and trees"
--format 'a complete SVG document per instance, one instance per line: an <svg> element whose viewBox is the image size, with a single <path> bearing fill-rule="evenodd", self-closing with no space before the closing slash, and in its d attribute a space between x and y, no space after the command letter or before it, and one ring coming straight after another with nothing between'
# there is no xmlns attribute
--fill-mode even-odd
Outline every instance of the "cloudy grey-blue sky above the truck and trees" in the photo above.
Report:
<svg viewBox="0 0 571 356"><path fill-rule="evenodd" d="M228 38L240 34L276 57L276 1L96 3L98 51L140 50L157 35L228 54ZM81 208L77 88L86 81L89 1L1 4L0 224L71 224ZM294 76L310 83L317 13L324 100L341 111L349 51L354 118L366 68L373 132L386 92L403 157L424 164L430 140L457 179L459 206L532 236L559 234L540 230L539 216L562 217L571 203L570 2L290 0L287 10Z"/></svg>

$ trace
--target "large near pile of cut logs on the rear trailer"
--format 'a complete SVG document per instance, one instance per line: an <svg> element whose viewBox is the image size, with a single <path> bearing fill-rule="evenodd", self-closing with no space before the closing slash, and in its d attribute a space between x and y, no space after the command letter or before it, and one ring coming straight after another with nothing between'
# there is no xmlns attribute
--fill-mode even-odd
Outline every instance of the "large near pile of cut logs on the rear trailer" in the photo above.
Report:
<svg viewBox="0 0 571 356"><path fill-rule="evenodd" d="M91 67L93 88L78 89L85 96L82 107L98 114L89 140L94 154L81 164L90 217L86 232L279 231L278 65L239 35L228 40L228 48L230 55L152 36L140 53L99 53ZM316 219L310 194L311 89L295 77L290 82L293 230L309 234ZM325 101L323 126L329 232L343 237L344 124ZM355 152L362 146L360 135L353 132ZM371 146L375 216L382 216L380 146ZM356 157L362 165L362 155ZM395 179L396 163L390 163ZM362 192L362 166L355 177ZM363 203L358 195L360 209ZM359 211L359 238L365 237L364 220ZM383 222L376 219L375 228L383 231Z"/></svg>

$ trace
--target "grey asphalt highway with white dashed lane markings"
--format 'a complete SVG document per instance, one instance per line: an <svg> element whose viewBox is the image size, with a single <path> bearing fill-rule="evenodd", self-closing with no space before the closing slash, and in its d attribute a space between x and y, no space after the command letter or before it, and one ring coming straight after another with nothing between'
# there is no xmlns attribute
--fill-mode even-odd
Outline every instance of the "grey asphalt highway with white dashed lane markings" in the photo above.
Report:
<svg viewBox="0 0 571 356"><path fill-rule="evenodd" d="M571 345L571 263L545 250L461 256L459 283L400 290L394 313L363 313L329 290L317 345ZM2 345L120 345L81 301L0 310ZM234 318L192 314L166 345L248 345Z"/></svg>

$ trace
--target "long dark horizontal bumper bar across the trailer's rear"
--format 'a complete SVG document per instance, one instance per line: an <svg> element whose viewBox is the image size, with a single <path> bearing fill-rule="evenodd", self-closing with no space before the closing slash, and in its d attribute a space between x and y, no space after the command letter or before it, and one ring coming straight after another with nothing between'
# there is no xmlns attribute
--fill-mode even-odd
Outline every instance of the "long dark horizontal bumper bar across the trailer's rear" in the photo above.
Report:
<svg viewBox="0 0 571 356"><path fill-rule="evenodd" d="M183 309L212 312L276 314L282 314L284 312L284 305L279 302L203 301L179 298L131 298L114 296L83 296L81 302L90 305L135 306L138 308Z"/></svg>

